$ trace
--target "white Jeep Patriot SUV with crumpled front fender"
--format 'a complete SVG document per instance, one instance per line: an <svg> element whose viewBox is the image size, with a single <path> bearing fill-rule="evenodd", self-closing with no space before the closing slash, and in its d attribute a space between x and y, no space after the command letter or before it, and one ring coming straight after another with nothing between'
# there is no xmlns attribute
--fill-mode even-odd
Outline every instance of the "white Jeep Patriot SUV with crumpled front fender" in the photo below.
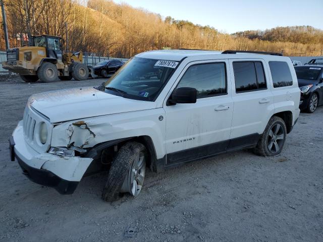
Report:
<svg viewBox="0 0 323 242"><path fill-rule="evenodd" d="M159 172L245 148L279 154L299 101L293 64L277 53L148 51L101 89L32 95L10 139L11 159L61 194L108 169L102 199L136 197L147 167Z"/></svg>

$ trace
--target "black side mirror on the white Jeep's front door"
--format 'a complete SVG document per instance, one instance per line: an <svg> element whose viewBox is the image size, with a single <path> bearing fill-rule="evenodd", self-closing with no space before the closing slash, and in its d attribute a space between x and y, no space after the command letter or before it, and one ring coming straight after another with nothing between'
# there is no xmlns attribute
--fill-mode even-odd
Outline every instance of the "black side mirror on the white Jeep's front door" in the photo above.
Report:
<svg viewBox="0 0 323 242"><path fill-rule="evenodd" d="M196 103L197 90L191 87L180 87L173 91L170 99L168 100L169 105L176 103Z"/></svg>

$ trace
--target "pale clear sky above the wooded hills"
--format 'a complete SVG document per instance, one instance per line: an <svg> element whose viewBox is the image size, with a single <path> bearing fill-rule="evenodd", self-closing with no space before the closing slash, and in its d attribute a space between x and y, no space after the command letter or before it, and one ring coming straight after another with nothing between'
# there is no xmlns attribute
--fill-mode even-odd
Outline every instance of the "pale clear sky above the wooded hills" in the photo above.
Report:
<svg viewBox="0 0 323 242"><path fill-rule="evenodd" d="M277 26L310 25L323 30L323 0L114 0L135 8L144 8L209 25L227 33L264 30Z"/></svg>

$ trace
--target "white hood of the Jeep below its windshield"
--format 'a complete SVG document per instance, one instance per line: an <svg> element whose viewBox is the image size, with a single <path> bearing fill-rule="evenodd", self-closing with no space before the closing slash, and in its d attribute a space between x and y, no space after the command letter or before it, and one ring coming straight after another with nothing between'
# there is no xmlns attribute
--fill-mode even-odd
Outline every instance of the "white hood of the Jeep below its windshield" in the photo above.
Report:
<svg viewBox="0 0 323 242"><path fill-rule="evenodd" d="M34 94L28 105L47 116L51 123L156 107L154 102L115 96L93 87Z"/></svg>

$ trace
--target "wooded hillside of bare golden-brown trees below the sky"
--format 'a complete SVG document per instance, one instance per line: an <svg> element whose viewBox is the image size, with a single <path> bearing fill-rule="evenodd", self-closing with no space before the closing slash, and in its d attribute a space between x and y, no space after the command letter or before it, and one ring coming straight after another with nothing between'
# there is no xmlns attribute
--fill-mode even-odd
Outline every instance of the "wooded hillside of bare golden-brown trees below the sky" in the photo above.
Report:
<svg viewBox="0 0 323 242"><path fill-rule="evenodd" d="M80 1L80 0L79 0ZM20 33L52 34L65 38L70 48L116 57L161 48L240 49L284 51L286 55L322 55L323 31L310 26L277 27L264 31L225 34L209 26L135 9L108 0L6 0L10 46L21 46ZM221 23L219 23L219 28ZM5 49L3 31L0 48Z"/></svg>

